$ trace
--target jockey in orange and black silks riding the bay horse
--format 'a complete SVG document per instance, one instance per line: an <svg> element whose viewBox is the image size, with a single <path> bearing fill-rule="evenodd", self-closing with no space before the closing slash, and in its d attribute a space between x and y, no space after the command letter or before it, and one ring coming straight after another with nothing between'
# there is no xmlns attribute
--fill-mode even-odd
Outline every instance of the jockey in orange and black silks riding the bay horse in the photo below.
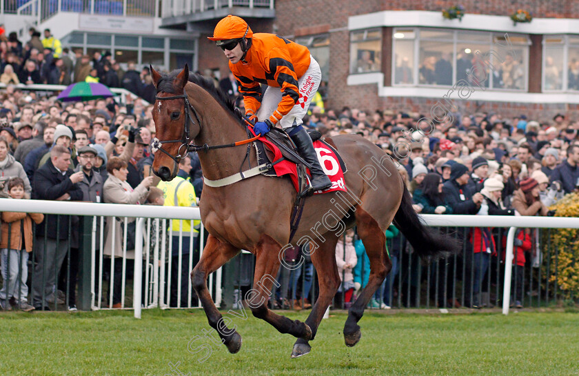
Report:
<svg viewBox="0 0 579 376"><path fill-rule="evenodd" d="M245 101L245 115L257 121L256 134L265 135L279 123L301 157L312 166L312 189L329 188L332 182L302 127L302 118L322 78L320 66L309 50L275 34L254 34L243 19L232 15L217 23L209 39L216 41L229 59ZM267 85L263 96L260 83Z"/></svg>

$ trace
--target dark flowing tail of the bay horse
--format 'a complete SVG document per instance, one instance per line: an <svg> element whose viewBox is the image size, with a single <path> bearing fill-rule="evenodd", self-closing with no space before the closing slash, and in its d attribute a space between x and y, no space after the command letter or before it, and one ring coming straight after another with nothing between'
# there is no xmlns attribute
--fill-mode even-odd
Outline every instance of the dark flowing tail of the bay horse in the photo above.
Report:
<svg viewBox="0 0 579 376"><path fill-rule="evenodd" d="M412 208L412 197L406 186L400 207L394 215L394 224L420 257L438 257L444 253L458 253L460 242L449 235L443 235L437 228L425 226Z"/></svg>

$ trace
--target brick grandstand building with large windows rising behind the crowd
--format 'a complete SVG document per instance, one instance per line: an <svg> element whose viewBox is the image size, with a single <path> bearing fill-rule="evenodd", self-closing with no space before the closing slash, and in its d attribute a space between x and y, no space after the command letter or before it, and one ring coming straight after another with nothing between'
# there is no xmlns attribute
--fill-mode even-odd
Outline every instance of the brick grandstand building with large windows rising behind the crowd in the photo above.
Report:
<svg viewBox="0 0 579 376"><path fill-rule="evenodd" d="M37 23L89 54L108 49L167 70L187 62L224 77L227 60L206 37L236 14L254 31L308 46L333 108L426 114L441 101L539 120L579 109L579 3L461 3L461 20L443 17L455 2L426 0L17 0L4 1L4 15L8 30L17 13L28 20L23 32ZM511 20L519 8L531 22Z"/></svg>

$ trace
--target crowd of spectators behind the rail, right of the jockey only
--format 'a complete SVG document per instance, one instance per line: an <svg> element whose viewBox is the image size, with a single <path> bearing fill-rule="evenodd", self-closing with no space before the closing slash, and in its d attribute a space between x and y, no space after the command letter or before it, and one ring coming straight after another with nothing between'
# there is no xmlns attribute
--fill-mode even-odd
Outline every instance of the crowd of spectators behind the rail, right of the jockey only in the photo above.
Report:
<svg viewBox="0 0 579 376"><path fill-rule="evenodd" d="M447 116L433 129L426 121L417 123L421 118L420 114L390 110L343 108L340 112L322 112L314 108L306 123L323 135L354 133L383 148L400 164L400 175L413 194L416 212L552 215L547 207L579 188L579 121L558 114L552 121L540 123L525 115L505 118L479 112L453 114L453 120ZM461 237L467 244L458 266L465 270L465 299L443 301L443 297L452 296L453 285L444 283L447 275L440 270L436 303L487 306L491 301L482 280L490 273L489 266L500 262L497 251L504 239L491 228L473 228ZM531 243L527 243L527 238ZM540 257L536 239L535 230L518 232L514 306L520 306L522 301L522 269L518 268ZM451 269L452 266L445 267ZM445 286L449 288L446 294ZM378 306L386 305L378 300Z"/></svg>

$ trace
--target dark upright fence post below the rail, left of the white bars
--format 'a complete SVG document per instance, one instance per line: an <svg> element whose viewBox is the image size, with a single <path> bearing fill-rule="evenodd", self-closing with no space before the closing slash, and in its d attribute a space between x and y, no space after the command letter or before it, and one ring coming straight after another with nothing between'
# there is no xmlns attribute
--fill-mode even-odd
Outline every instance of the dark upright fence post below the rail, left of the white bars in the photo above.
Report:
<svg viewBox="0 0 579 376"><path fill-rule="evenodd" d="M80 237L79 237L79 309L91 310L91 273L92 264L92 218L81 217Z"/></svg>

